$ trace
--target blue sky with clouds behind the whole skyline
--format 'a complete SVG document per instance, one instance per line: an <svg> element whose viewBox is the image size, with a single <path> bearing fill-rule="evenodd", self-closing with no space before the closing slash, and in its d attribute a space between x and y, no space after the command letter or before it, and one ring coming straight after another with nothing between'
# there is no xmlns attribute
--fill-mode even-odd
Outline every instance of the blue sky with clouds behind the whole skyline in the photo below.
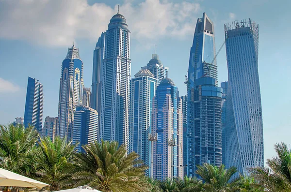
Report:
<svg viewBox="0 0 291 192"><path fill-rule="evenodd" d="M290 0L0 0L0 124L24 116L28 76L43 84L43 119L57 116L61 65L74 40L84 86L91 87L93 50L118 4L131 31L131 75L148 63L156 44L180 96L203 12L214 22L216 50L225 23L257 22L265 159L275 156L275 143L291 144ZM217 65L219 82L227 81L225 47Z"/></svg>

